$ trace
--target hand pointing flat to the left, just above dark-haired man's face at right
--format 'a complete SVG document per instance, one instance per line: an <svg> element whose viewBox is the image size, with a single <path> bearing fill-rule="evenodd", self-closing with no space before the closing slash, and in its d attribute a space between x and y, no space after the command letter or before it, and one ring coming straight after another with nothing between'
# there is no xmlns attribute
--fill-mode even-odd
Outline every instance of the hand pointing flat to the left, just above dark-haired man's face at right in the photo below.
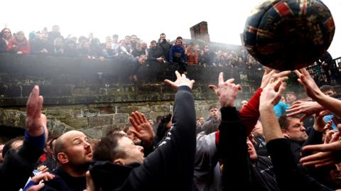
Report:
<svg viewBox="0 0 341 191"><path fill-rule="evenodd" d="M304 114L300 121L307 119L309 116L316 114L323 110L323 107L318 104L318 102L303 102L296 101L290 107L290 109L286 110L288 112L287 116L296 116L298 114Z"/></svg>

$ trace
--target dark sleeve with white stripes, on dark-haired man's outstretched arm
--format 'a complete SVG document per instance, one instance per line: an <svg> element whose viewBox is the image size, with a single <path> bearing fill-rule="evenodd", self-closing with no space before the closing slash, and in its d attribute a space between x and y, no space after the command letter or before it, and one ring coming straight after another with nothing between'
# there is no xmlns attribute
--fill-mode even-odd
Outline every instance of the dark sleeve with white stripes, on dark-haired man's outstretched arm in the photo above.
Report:
<svg viewBox="0 0 341 191"><path fill-rule="evenodd" d="M193 94L187 86L179 87L175 95L172 122L171 131L158 148L130 173L126 183L132 190L193 188L196 124Z"/></svg>

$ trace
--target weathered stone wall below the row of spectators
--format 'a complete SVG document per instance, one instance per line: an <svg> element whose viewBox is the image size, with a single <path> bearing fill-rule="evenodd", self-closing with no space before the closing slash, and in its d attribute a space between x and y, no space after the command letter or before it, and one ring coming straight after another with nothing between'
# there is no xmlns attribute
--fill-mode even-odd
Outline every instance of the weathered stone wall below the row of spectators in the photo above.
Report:
<svg viewBox="0 0 341 191"><path fill-rule="evenodd" d="M173 65L147 62L139 68L138 82L131 82L131 65L120 60L0 54L0 126L24 128L26 100L38 84L53 136L77 129L101 137L129 124L131 111L139 110L151 119L171 113L175 92L163 80L174 80L175 70ZM242 84L237 106L259 86L260 71L190 66L197 117L207 116L210 104L217 104L207 85L217 84L219 72Z"/></svg>

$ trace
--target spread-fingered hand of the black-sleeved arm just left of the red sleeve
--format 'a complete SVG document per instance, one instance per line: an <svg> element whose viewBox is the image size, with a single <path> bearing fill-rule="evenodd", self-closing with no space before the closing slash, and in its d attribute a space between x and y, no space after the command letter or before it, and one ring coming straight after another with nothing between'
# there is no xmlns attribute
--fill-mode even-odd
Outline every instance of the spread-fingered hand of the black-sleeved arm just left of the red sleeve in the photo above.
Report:
<svg viewBox="0 0 341 191"><path fill-rule="evenodd" d="M220 72L218 87L212 84L208 86L215 91L215 94L220 100L221 107L234 107L234 99L237 97L237 91L241 90L242 87L233 82L233 78L224 82L224 74Z"/></svg>

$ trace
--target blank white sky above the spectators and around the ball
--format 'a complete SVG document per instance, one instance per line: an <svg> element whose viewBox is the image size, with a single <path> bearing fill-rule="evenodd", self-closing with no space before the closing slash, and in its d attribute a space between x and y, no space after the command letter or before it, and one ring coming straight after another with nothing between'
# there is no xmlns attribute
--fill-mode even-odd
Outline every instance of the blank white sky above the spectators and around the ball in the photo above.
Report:
<svg viewBox="0 0 341 191"><path fill-rule="evenodd" d="M104 41L114 33L122 39L136 34L146 42L160 33L174 40L190 38L190 27L207 21L211 41L241 45L239 34L251 10L260 0L17 0L15 9L1 9L0 28L12 32L50 31L57 24L64 37L88 36ZM332 12L336 30L329 52L341 56L341 1L323 0Z"/></svg>

